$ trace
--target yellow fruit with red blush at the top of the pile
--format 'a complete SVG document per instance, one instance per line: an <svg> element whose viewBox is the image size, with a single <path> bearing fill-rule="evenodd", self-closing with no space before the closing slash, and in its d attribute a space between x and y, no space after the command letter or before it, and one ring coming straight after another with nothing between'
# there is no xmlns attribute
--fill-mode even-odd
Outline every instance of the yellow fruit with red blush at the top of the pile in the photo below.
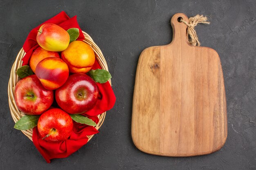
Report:
<svg viewBox="0 0 256 170"><path fill-rule="evenodd" d="M70 43L70 35L60 26L47 23L40 26L36 41L47 51L63 51Z"/></svg>

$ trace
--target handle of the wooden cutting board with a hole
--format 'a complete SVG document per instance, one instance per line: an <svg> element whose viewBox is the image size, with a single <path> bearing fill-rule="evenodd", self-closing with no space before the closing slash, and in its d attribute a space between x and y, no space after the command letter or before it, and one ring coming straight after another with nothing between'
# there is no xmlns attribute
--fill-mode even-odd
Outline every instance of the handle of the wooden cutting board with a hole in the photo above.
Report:
<svg viewBox="0 0 256 170"><path fill-rule="evenodd" d="M173 15L173 17L171 18L171 26L173 27L173 40L171 44L180 44L184 42L186 42L184 44L189 44L189 40L186 36L186 29L188 26L183 22L179 22L180 17L182 18L182 20L189 23L189 18L184 13L176 13L175 15Z"/></svg>

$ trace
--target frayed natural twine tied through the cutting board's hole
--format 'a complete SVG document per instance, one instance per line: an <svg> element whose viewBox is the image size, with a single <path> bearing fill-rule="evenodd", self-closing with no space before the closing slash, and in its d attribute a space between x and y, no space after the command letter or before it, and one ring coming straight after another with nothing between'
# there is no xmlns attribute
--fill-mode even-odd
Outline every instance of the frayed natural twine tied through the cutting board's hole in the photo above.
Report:
<svg viewBox="0 0 256 170"><path fill-rule="evenodd" d="M203 15L195 15L194 17L189 18L189 23L182 20L182 18L180 21L188 26L186 36L189 40L189 43L193 46L200 46L198 35L195 32L195 26L197 26L197 24L210 24L210 22L207 21L207 17Z"/></svg>

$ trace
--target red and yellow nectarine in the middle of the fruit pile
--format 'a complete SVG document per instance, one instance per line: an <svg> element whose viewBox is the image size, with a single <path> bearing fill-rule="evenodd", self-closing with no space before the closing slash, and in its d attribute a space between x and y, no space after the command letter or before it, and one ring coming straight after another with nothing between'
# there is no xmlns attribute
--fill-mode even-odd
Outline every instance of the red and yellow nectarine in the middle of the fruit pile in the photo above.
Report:
<svg viewBox="0 0 256 170"><path fill-rule="evenodd" d="M62 86L69 75L68 66L57 57L47 57L36 66L36 76L48 90Z"/></svg>

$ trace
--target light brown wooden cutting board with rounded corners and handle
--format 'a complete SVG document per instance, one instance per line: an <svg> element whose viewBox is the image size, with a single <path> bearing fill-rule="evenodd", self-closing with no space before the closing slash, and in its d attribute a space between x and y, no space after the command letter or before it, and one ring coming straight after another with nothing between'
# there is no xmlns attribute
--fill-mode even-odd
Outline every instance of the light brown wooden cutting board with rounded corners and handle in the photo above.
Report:
<svg viewBox="0 0 256 170"><path fill-rule="evenodd" d="M227 108L218 53L191 46L186 24L171 19L173 40L142 51L132 106L132 140L153 155L187 157L219 150L227 138Z"/></svg>

